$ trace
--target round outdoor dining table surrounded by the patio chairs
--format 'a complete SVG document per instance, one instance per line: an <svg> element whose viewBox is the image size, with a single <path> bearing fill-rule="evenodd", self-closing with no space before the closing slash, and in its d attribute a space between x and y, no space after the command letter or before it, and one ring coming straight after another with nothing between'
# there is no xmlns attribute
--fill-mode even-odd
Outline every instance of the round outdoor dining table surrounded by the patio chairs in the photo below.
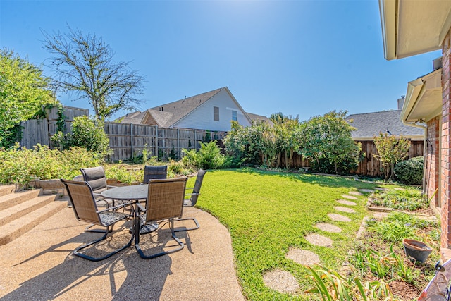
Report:
<svg viewBox="0 0 451 301"><path fill-rule="evenodd" d="M101 192L101 196L106 199L130 202L132 206L135 206L137 202L147 200L148 191L149 185L128 185L104 190ZM135 218L139 219L137 216ZM158 229L158 223L147 223L141 225L140 233L149 233L156 229Z"/></svg>

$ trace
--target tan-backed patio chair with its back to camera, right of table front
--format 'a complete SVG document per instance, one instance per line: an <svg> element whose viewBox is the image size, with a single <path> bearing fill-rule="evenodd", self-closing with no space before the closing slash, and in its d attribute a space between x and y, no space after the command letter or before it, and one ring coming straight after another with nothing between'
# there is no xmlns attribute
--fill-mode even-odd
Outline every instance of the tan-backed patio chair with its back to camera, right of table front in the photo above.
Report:
<svg viewBox="0 0 451 301"><path fill-rule="evenodd" d="M174 221L180 219L183 214L183 198L185 195L187 178L154 179L149 180L149 192L145 208L142 204L136 204L137 216L135 217L135 247L144 259L152 259L162 255L171 254L183 249L183 242L175 235ZM140 247L140 225L141 223L169 222L169 228L173 239L178 243L178 247L146 255ZM161 231L161 227L159 228ZM152 235L152 234L151 234Z"/></svg>

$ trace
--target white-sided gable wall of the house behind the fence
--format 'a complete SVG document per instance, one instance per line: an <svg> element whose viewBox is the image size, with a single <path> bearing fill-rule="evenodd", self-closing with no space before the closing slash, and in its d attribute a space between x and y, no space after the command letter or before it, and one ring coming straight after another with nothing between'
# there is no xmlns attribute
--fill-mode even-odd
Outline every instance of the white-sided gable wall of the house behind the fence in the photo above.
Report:
<svg viewBox="0 0 451 301"><path fill-rule="evenodd" d="M214 106L219 108L219 121L214 121ZM175 123L173 128L229 131L232 111L237 111L237 121L240 125L251 125L233 97L226 90L222 90L178 123Z"/></svg>

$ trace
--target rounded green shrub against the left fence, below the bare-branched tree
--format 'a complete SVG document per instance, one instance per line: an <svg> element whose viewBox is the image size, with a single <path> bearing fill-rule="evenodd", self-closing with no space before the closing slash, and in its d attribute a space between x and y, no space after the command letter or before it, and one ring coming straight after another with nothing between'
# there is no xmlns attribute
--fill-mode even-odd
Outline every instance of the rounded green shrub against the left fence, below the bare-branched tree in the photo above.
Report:
<svg viewBox="0 0 451 301"><path fill-rule="evenodd" d="M69 149L70 147L84 147L104 159L112 154L109 139L102 121L94 121L87 116L75 117L72 123L72 133L64 135L62 132L51 137L56 147Z"/></svg>

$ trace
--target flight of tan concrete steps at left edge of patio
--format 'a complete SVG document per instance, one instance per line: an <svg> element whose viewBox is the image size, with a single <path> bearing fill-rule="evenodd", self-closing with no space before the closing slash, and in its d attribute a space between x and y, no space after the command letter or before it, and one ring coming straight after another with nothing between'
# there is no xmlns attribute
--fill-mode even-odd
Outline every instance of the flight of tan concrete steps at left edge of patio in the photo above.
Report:
<svg viewBox="0 0 451 301"><path fill-rule="evenodd" d="M12 188L4 188L9 193L0 196L0 246L67 207L67 200L56 201L56 195L43 195L42 190L13 192Z"/></svg>

